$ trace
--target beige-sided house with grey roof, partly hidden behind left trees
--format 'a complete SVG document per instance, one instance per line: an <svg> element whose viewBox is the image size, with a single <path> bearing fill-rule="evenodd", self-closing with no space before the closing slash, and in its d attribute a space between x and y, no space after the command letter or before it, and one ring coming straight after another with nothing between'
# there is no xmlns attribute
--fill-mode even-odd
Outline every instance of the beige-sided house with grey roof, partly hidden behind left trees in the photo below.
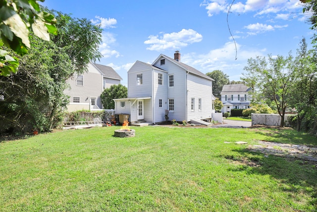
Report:
<svg viewBox="0 0 317 212"><path fill-rule="evenodd" d="M111 67L90 62L88 71L68 79L70 88L64 91L70 96L67 111L102 109L101 93L113 84L120 84L120 80L122 78Z"/></svg>

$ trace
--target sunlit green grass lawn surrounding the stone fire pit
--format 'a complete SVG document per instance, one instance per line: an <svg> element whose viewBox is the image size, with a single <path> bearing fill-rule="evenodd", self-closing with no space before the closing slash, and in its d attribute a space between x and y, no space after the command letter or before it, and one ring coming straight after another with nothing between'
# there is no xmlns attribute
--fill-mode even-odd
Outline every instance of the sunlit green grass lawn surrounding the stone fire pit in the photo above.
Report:
<svg viewBox="0 0 317 212"><path fill-rule="evenodd" d="M313 212L317 163L248 150L317 145L293 130L134 127L0 141L0 211ZM236 144L246 141L248 144Z"/></svg>

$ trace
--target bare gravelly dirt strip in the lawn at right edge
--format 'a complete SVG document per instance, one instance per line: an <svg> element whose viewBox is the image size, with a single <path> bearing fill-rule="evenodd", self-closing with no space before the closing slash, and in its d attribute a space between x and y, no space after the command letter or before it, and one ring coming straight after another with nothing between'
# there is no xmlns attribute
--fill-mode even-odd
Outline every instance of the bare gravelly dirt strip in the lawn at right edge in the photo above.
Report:
<svg viewBox="0 0 317 212"><path fill-rule="evenodd" d="M259 141L259 144L249 145L248 149L250 151L264 153L265 155L299 158L317 162L317 147L313 145Z"/></svg>

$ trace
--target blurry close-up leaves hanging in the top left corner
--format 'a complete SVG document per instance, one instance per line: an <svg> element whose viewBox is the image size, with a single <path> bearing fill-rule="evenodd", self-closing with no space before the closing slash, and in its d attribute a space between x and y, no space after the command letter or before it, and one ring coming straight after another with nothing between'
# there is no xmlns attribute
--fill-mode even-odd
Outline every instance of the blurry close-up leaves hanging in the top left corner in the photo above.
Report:
<svg viewBox="0 0 317 212"><path fill-rule="evenodd" d="M29 32L49 41L50 33L57 34L55 23L37 0L0 0L0 75L16 73L19 66L17 57L11 57L4 46L23 56L31 47Z"/></svg>

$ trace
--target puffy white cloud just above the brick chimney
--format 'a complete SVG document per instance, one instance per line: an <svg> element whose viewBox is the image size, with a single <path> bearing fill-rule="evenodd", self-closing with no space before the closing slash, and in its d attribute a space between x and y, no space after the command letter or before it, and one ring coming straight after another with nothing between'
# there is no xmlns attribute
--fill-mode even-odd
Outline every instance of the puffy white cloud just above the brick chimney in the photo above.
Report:
<svg viewBox="0 0 317 212"><path fill-rule="evenodd" d="M203 40L203 36L193 29L182 29L179 32L163 34L160 37L151 35L148 38L149 40L144 41L145 44L150 45L147 50L155 50L158 52L166 49L181 49L188 44L201 42Z"/></svg>

